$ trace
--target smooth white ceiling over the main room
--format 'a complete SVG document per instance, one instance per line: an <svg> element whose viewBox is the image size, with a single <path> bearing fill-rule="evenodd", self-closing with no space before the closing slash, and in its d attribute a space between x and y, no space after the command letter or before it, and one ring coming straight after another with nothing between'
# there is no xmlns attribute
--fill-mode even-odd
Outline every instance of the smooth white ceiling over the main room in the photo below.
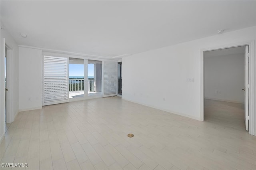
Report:
<svg viewBox="0 0 256 170"><path fill-rule="evenodd" d="M256 25L256 1L0 1L20 45L115 57ZM20 33L28 35L22 38ZM224 33L225 34L225 33Z"/></svg>

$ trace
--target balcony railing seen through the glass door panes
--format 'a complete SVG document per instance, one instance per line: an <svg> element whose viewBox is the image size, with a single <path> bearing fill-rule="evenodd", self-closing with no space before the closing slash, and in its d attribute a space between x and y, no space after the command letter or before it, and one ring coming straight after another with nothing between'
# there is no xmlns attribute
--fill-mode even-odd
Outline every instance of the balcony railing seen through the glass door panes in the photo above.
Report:
<svg viewBox="0 0 256 170"><path fill-rule="evenodd" d="M88 80L88 92L94 92L94 80ZM69 79L69 91L84 91L84 79Z"/></svg>

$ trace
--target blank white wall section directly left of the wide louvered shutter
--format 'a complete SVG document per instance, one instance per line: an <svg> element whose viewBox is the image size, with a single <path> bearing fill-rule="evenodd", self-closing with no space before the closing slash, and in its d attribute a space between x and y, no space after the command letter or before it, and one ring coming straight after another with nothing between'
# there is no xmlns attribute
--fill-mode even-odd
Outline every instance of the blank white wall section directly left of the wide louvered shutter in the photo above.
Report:
<svg viewBox="0 0 256 170"><path fill-rule="evenodd" d="M19 109L42 108L42 50L19 47Z"/></svg>

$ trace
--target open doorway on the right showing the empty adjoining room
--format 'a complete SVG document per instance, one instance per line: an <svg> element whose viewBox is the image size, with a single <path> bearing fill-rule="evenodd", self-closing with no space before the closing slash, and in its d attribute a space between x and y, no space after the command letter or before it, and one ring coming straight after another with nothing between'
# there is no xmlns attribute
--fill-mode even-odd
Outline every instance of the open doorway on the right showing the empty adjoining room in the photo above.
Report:
<svg viewBox="0 0 256 170"><path fill-rule="evenodd" d="M248 130L248 45L204 51L204 120Z"/></svg>

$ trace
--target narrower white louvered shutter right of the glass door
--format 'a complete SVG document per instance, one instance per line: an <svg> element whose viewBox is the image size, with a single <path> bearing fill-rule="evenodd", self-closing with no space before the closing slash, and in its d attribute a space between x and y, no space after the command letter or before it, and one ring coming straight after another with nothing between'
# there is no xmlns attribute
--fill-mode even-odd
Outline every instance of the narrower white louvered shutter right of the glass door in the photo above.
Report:
<svg viewBox="0 0 256 170"><path fill-rule="evenodd" d="M103 61L103 97L117 93L117 62Z"/></svg>

